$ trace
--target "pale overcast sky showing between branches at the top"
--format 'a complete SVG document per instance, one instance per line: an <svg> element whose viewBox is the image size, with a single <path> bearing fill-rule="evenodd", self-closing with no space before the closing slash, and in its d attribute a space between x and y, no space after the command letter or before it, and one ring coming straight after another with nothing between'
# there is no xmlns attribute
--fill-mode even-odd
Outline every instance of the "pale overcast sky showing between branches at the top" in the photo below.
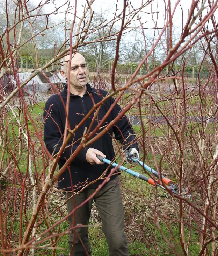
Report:
<svg viewBox="0 0 218 256"><path fill-rule="evenodd" d="M63 4L64 1L61 0L56 0L53 1L56 6L60 6L61 4ZM92 5L92 10L94 12L100 12L102 10L102 12L106 11L108 17L107 18L112 18L113 13L115 11L115 0L95 0L93 5ZM123 0L118 0L118 4L117 4L117 8L122 11L123 9ZM131 4L133 5L134 8L138 8L141 6L141 3L145 3L147 2L147 0L133 0L131 1ZM157 18L158 15L158 21L157 21L157 26L158 27L163 27L163 17L165 14L165 2L166 5L168 4L168 0L153 0L152 1L152 11L156 12L158 11L158 14L153 14L154 19ZM175 3L177 1L176 0L171 0L171 10L173 11ZM207 1L206 1L207 3ZM83 15L83 10L84 10L84 6L86 4L86 0L78 0L77 1L77 16L81 17ZM71 0L71 4L72 6L75 6L75 0ZM183 13L183 22L186 22L187 16L188 16L188 12L190 9L190 5L191 5L191 0L181 0L179 2L179 5L176 8L175 14L173 16L173 29L174 29L174 33L179 35L181 33L181 29L182 29L182 13ZM46 5L46 11L50 12L51 9L53 8L54 4L52 4L52 1L50 4ZM63 21L64 20L64 11L66 10L66 7L63 7L60 9L60 11L62 11L63 13L60 13L58 15L55 16L55 19ZM151 12L151 4L149 4L145 9L143 9L145 12ZM74 10L72 10L72 13L74 12ZM206 11L205 11L206 12ZM141 16L141 21L146 22L144 27L154 27L154 22L152 20L152 15L151 14L147 14L147 13L140 13ZM67 17L69 20L73 19L73 14L68 14ZM72 21L71 21L72 22ZM198 22L198 20L197 20ZM139 25L139 22L136 22ZM133 25L133 24L132 24ZM146 29L144 30L146 35L152 36L154 33L154 29ZM131 40L131 36L129 36L127 39L125 40Z"/></svg>

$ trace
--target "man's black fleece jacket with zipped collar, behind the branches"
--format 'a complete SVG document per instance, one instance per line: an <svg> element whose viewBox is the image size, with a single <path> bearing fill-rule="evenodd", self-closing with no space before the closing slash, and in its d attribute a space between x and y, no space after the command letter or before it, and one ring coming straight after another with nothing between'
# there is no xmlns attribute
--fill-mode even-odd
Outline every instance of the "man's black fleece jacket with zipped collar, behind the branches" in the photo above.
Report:
<svg viewBox="0 0 218 256"><path fill-rule="evenodd" d="M103 97L106 96L107 92L99 89L91 88L87 84L87 93L80 97L78 95L70 94L70 107L69 107L69 122L71 129L74 129L77 124L87 115L89 110L93 107L93 101L95 103L100 102ZM60 93L63 98L63 102L66 105L67 100L67 86L65 86L64 91ZM91 96L92 95L92 96ZM93 98L91 98L91 97ZM58 94L51 96L45 104L44 111L44 141L45 145L48 148L49 152L52 154L57 153L63 143L63 134L65 128L65 109L63 102ZM92 125L92 129L100 122L100 120L107 113L111 104L114 102L113 98L108 99L100 108L97 118L95 118ZM110 123L118 115L121 108L118 104L115 105L115 108L111 111L110 115L105 120L105 126ZM81 138L84 132L85 127L89 127L94 113L86 120L86 122L80 126L80 128L72 135L69 144L70 147L67 147L64 153L61 155L59 160L59 169L65 164L66 159L70 158L72 152L78 147L81 142ZM103 129L103 128L102 128ZM96 132L99 133L102 129ZM106 158L114 158L114 150L112 146L112 136L115 135L116 140L119 140L125 150L128 147L134 147L138 150L136 136L133 132L132 126L129 123L129 120L126 116L123 116L113 127L108 130L101 138L91 144L90 148L96 148L106 155ZM75 157L73 162L70 165L70 168L66 169L63 175L60 177L58 182L58 189L72 190L77 191L81 186L86 185L87 182L91 182L100 177L100 175L108 167L107 164L103 165L91 165L86 160L86 152L88 147L83 148L83 150ZM109 169L110 171L110 169ZM107 172L107 174L109 173ZM106 174L106 175L107 175ZM112 176L113 179L115 176ZM90 188L96 188L103 180L99 180L90 185Z"/></svg>

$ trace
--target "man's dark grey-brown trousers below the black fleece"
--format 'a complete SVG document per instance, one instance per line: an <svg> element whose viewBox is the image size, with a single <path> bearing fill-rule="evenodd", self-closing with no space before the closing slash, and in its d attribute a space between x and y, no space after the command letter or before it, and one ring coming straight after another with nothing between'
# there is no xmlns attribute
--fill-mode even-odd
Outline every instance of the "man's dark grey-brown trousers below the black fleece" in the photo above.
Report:
<svg viewBox="0 0 218 256"><path fill-rule="evenodd" d="M79 195L74 195L67 202L68 213L75 206L85 201L94 191L94 188L87 188ZM67 192L66 199L72 195L72 192ZM118 176L105 184L93 199L101 216L102 230L109 246L109 255L129 256L127 238L124 232L124 212ZM88 240L88 223L92 202L92 199L89 200L68 218L69 222L72 223L71 227L75 227L77 224L87 225L87 227L78 227L71 231L69 237L70 255L91 255Z"/></svg>

